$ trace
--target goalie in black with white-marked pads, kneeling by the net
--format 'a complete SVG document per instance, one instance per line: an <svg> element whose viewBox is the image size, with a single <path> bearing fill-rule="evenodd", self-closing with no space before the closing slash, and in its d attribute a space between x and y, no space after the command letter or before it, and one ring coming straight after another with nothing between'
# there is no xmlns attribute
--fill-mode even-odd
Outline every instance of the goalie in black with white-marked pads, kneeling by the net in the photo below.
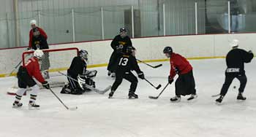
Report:
<svg viewBox="0 0 256 137"><path fill-rule="evenodd" d="M95 87L94 77L97 71L88 71L87 68L88 52L80 50L79 55L73 58L72 63L67 70L68 84L65 85L61 93L80 95L90 91L87 86Z"/></svg>

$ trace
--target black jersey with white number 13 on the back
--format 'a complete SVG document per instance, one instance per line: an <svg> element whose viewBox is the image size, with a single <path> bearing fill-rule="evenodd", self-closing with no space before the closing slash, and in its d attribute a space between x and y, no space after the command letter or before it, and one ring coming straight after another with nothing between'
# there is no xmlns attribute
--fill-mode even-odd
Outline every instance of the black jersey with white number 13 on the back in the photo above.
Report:
<svg viewBox="0 0 256 137"><path fill-rule="evenodd" d="M124 73L132 70L136 71L137 74L142 73L137 60L133 55L119 55L117 61L118 66L116 68L116 73Z"/></svg>

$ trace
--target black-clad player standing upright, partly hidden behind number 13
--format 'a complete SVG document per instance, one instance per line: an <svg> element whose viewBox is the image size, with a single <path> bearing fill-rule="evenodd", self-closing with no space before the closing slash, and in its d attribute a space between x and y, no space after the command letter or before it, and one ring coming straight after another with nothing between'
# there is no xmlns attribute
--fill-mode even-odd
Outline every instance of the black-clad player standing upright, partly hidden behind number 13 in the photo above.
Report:
<svg viewBox="0 0 256 137"><path fill-rule="evenodd" d="M111 42L111 47L113 49L112 55L108 63L108 76L115 77L115 70L117 66L117 57L127 49L127 45L132 46L132 41L127 36L127 30L125 28L120 28L119 33L113 41Z"/></svg>

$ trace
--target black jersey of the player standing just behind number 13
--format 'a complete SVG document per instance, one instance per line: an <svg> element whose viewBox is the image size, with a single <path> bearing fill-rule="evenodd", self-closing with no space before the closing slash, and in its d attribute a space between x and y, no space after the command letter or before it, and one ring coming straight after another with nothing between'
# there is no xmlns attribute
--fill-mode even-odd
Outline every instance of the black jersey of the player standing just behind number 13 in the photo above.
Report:
<svg viewBox="0 0 256 137"><path fill-rule="evenodd" d="M113 50L116 50L119 45L123 45L122 52L125 52L127 46L132 46L132 41L131 39L129 39L129 36L125 36L124 38L122 38L120 35L117 35L111 42L111 47L113 48Z"/></svg>

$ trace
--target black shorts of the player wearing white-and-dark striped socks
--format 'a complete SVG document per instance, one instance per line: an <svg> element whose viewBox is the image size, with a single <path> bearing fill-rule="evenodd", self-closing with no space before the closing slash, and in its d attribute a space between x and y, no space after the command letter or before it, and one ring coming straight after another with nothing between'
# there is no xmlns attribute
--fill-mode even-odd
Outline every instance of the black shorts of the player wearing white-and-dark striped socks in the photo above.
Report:
<svg viewBox="0 0 256 137"><path fill-rule="evenodd" d="M28 71L26 68L23 68L20 66L18 70L18 87L20 88L26 88L26 87L33 87L34 85L37 85L37 83L34 81L32 77L29 76Z"/></svg>

